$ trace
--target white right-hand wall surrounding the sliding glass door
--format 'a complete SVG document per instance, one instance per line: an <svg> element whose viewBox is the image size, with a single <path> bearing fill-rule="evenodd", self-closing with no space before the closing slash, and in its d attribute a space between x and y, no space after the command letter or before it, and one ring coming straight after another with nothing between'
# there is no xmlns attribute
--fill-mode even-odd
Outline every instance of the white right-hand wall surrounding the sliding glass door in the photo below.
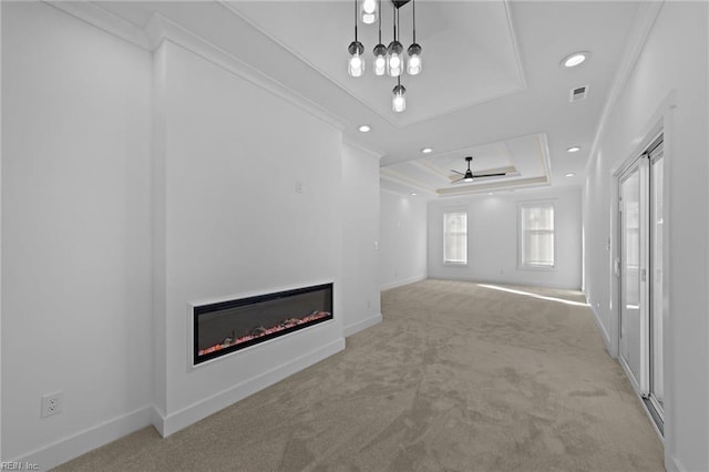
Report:
<svg viewBox="0 0 709 472"><path fill-rule="evenodd" d="M709 470L709 301L707 287L708 11L706 2L666 2L592 155L584 189L586 294L609 349L617 347L613 299L614 171L643 151L655 125L665 127L666 468Z"/></svg>

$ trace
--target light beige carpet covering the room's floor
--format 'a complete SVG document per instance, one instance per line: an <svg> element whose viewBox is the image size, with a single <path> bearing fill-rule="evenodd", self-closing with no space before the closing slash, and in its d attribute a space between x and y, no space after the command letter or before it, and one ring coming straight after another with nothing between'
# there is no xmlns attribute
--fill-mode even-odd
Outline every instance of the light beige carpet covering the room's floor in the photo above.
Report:
<svg viewBox="0 0 709 472"><path fill-rule="evenodd" d="M146 428L56 470L664 470L587 307L424 280L383 293L382 314L343 352L167 439Z"/></svg>

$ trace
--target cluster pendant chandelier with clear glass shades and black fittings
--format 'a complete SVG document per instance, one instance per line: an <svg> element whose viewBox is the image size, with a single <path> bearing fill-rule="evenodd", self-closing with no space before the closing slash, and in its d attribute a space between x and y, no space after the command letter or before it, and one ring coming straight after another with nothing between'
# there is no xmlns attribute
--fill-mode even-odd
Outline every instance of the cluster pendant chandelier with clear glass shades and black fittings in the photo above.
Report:
<svg viewBox="0 0 709 472"><path fill-rule="evenodd" d="M361 2L359 6L358 1ZM408 58L404 58L403 44L399 42L399 9L409 2L412 6L413 43L407 49ZM381 42L381 0L354 0L354 41L347 49L349 53L347 73L353 78L364 75L366 61L362 57L364 45L357 35L359 20L361 19L364 24L371 24L379 19L379 43L372 50L374 55L372 69L374 75L387 74L397 78L397 85L392 90L391 107L394 112L401 113L407 110L407 89L401 85L401 75L404 70L409 75L421 73L421 44L417 42L415 0L391 0L391 4L393 6L393 38L386 47Z"/></svg>

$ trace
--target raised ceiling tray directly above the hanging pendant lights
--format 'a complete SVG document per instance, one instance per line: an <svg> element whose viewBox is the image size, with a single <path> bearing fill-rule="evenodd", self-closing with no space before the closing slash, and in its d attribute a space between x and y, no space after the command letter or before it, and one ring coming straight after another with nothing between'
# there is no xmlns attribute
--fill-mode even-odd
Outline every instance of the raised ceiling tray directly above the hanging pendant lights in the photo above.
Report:
<svg viewBox="0 0 709 472"><path fill-rule="evenodd" d="M382 42L393 37L393 4L382 2ZM417 2L417 41L424 45L424 72L402 76L410 96L405 113L391 110L397 80L374 76L371 50L378 24L358 27L369 69L362 78L347 74L346 49L354 38L353 1L246 2L229 6L265 34L397 127L431 120L524 90L508 6L504 2ZM304 10L309 14L304 16ZM400 9L400 41L412 40L412 3ZM298 21L294 21L298 19ZM347 21L349 19L349 22ZM455 44L455 47L452 47Z"/></svg>

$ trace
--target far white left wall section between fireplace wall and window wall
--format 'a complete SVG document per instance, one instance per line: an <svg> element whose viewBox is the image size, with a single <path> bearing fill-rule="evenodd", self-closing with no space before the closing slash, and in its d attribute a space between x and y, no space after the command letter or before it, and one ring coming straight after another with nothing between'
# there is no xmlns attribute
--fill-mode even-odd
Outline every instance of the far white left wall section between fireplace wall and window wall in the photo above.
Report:
<svg viewBox="0 0 709 472"><path fill-rule="evenodd" d="M427 277L425 199L380 194L379 283L382 290Z"/></svg>

